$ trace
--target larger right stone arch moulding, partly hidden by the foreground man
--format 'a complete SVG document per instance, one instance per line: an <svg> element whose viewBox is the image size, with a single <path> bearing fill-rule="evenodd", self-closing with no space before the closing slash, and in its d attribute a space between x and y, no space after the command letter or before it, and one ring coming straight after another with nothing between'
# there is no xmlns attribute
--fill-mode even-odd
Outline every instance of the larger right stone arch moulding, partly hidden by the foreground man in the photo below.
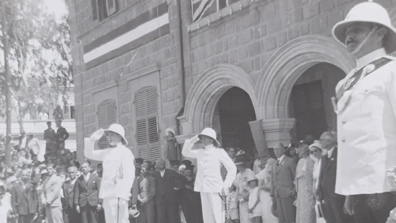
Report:
<svg viewBox="0 0 396 223"><path fill-rule="evenodd" d="M288 118L288 99L296 80L309 67L327 62L348 73L355 60L332 37L307 35L283 45L266 63L256 85L263 119Z"/></svg>

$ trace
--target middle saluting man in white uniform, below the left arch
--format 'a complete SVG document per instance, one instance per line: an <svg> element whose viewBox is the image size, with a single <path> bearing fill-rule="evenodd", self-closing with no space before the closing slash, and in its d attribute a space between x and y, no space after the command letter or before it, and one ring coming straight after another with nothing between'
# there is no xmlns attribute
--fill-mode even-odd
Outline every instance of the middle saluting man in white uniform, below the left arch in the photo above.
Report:
<svg viewBox="0 0 396 223"><path fill-rule="evenodd" d="M201 140L204 149L191 150L195 142ZM216 132L205 128L201 134L186 139L182 154L197 160L194 191L201 192L202 213L205 223L222 223L225 220L222 195L228 192L237 175L237 167L228 154L218 146ZM227 170L225 180L221 178L220 167Z"/></svg>

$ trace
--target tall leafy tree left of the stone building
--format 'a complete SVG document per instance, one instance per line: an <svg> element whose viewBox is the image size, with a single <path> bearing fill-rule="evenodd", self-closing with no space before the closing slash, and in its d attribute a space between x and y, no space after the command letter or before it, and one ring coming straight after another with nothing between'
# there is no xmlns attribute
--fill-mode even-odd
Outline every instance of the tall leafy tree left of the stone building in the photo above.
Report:
<svg viewBox="0 0 396 223"><path fill-rule="evenodd" d="M45 10L43 0L4 0L4 3L9 26L13 115L22 131L26 114L49 112L59 105L59 97L63 103L67 100L65 91L73 83L69 25L67 18L57 23ZM3 70L0 64L0 72ZM0 77L2 86L4 80ZM0 101L0 115L5 114L4 101Z"/></svg>

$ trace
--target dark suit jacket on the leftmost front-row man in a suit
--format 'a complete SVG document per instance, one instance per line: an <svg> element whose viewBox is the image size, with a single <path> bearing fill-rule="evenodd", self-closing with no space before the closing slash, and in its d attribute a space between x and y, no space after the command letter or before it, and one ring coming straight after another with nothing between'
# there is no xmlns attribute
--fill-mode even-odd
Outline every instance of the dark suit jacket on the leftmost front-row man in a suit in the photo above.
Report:
<svg viewBox="0 0 396 223"><path fill-rule="evenodd" d="M39 200L33 184L28 182L23 189L22 183L15 183L11 191L11 205L14 213L33 214L39 210Z"/></svg>

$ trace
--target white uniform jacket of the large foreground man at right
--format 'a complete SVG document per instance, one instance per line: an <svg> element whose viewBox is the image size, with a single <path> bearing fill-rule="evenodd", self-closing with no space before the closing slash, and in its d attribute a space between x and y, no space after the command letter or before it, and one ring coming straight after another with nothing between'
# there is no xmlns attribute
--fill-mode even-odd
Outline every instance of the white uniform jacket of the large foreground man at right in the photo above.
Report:
<svg viewBox="0 0 396 223"><path fill-rule="evenodd" d="M343 87L353 71L339 82ZM396 61L361 79L339 99L336 193L388 192L386 170L396 165Z"/></svg>

